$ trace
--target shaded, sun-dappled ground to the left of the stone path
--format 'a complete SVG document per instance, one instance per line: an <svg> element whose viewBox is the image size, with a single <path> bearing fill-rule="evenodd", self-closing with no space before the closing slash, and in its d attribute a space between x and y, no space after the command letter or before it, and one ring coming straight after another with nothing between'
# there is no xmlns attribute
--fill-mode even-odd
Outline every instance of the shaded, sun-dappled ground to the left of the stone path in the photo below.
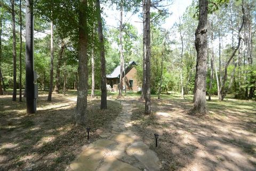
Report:
<svg viewBox="0 0 256 171"><path fill-rule="evenodd" d="M69 164L87 144L108 129L122 106L108 101L100 110L100 100L90 100L87 125L75 127L73 114L76 96L53 94L38 99L37 112L26 115L25 102L12 102L10 95L0 97L0 170L70 170ZM92 127L87 141L86 127Z"/></svg>

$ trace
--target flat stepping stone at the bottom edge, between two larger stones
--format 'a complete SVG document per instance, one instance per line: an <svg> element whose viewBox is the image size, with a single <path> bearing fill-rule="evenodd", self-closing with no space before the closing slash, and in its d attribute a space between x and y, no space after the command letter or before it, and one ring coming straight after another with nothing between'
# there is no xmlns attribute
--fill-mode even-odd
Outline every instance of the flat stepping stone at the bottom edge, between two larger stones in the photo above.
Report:
<svg viewBox="0 0 256 171"><path fill-rule="evenodd" d="M125 162L119 161L114 157L107 157L98 171L141 171Z"/></svg>

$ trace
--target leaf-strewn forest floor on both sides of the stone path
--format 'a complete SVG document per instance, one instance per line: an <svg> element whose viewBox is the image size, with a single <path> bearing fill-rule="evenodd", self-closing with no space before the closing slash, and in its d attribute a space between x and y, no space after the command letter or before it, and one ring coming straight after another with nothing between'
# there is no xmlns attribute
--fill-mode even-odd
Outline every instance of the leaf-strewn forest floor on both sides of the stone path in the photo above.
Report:
<svg viewBox="0 0 256 171"><path fill-rule="evenodd" d="M76 92L68 95L40 94L37 113L26 115L26 103L12 102L11 94L0 96L0 170L68 170L69 164L87 146L111 129L122 101L132 106L134 132L157 153L162 170L255 170L256 102L215 97L207 101L208 115L187 115L191 99L175 95L152 95L152 114L143 115L139 94L118 97L109 93L108 110L99 109L99 93L89 99L87 141L84 127L74 127ZM154 133L159 134L155 147Z"/></svg>

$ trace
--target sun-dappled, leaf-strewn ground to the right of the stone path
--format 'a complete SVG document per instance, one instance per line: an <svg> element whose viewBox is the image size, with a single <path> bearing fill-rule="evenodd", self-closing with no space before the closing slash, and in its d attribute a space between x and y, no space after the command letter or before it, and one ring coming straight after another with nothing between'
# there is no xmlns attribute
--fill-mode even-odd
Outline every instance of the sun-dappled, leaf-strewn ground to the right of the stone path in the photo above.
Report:
<svg viewBox="0 0 256 171"><path fill-rule="evenodd" d="M152 100L152 114L144 103L130 101L133 125L157 153L162 170L256 170L256 103L229 99L207 102L209 115L187 115L191 97ZM155 147L154 133L159 134Z"/></svg>

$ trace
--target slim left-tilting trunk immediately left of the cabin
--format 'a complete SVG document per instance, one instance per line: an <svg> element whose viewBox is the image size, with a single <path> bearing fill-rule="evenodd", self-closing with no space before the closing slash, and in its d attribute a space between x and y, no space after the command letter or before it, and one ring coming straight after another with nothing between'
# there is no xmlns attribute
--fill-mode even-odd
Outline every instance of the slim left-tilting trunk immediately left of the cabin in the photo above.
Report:
<svg viewBox="0 0 256 171"><path fill-rule="evenodd" d="M96 1L98 11L98 35L100 41L100 61L101 61L101 101L100 109L107 109L107 77L106 77L106 60L105 60L105 45L102 31L102 20L100 12L100 0Z"/></svg>

